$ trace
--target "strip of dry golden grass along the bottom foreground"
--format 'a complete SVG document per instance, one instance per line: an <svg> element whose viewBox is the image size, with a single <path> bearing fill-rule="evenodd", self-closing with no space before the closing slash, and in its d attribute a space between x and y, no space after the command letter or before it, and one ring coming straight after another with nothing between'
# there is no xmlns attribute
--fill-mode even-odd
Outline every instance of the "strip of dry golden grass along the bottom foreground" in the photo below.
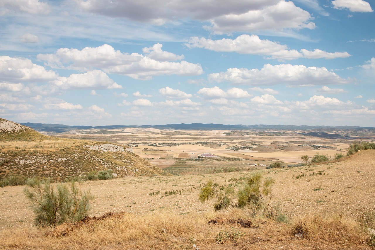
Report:
<svg viewBox="0 0 375 250"><path fill-rule="evenodd" d="M63 224L56 229L17 229L0 232L0 249L372 249L368 237L353 221L305 217L291 223L255 220L255 227L207 224L210 218L239 218L241 210L205 215L170 212L134 215L121 213L103 220ZM302 232L303 237L294 234ZM217 244L219 233L240 236ZM318 242L318 243L317 243Z"/></svg>

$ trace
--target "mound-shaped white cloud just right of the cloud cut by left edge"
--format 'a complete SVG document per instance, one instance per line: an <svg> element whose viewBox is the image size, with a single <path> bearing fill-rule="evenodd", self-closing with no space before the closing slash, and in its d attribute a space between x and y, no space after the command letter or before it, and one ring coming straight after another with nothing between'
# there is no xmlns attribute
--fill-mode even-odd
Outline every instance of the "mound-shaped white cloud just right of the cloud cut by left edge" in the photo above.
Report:
<svg viewBox="0 0 375 250"><path fill-rule="evenodd" d="M54 84L61 89L122 89L107 74L93 70L84 74L71 74L69 77L59 77Z"/></svg>

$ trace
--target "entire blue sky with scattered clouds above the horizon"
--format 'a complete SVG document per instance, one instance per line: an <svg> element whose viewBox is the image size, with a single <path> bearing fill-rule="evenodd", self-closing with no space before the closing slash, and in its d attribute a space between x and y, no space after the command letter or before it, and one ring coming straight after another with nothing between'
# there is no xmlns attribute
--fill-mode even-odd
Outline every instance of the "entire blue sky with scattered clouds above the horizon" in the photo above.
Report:
<svg viewBox="0 0 375 250"><path fill-rule="evenodd" d="M375 127L375 0L1 0L0 117Z"/></svg>

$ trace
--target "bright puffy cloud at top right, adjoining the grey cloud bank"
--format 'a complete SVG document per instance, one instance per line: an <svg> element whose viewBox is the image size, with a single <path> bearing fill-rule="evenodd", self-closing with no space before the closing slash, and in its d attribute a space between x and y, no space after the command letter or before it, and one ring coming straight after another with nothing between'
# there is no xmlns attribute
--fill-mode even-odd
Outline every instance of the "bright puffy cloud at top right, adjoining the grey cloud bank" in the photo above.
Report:
<svg viewBox="0 0 375 250"><path fill-rule="evenodd" d="M293 2L281 0L276 5L246 13L228 13L211 20L206 29L216 34L232 32L255 32L258 30L315 29L309 12L294 5Z"/></svg>

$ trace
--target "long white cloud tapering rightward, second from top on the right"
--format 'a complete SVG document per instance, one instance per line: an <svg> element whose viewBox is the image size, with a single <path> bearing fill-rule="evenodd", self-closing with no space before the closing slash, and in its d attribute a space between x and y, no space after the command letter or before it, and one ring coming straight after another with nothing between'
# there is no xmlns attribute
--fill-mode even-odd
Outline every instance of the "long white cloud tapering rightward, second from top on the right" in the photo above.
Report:
<svg viewBox="0 0 375 250"><path fill-rule="evenodd" d="M205 38L192 37L186 44L189 48L205 48L213 51L237 52L240 54L255 54L271 56L272 59L293 60L297 58L345 58L350 56L347 52L328 53L319 49L308 51L302 49L290 50L287 45L282 45L269 40L261 40L257 35L241 35L236 39L211 40Z"/></svg>

